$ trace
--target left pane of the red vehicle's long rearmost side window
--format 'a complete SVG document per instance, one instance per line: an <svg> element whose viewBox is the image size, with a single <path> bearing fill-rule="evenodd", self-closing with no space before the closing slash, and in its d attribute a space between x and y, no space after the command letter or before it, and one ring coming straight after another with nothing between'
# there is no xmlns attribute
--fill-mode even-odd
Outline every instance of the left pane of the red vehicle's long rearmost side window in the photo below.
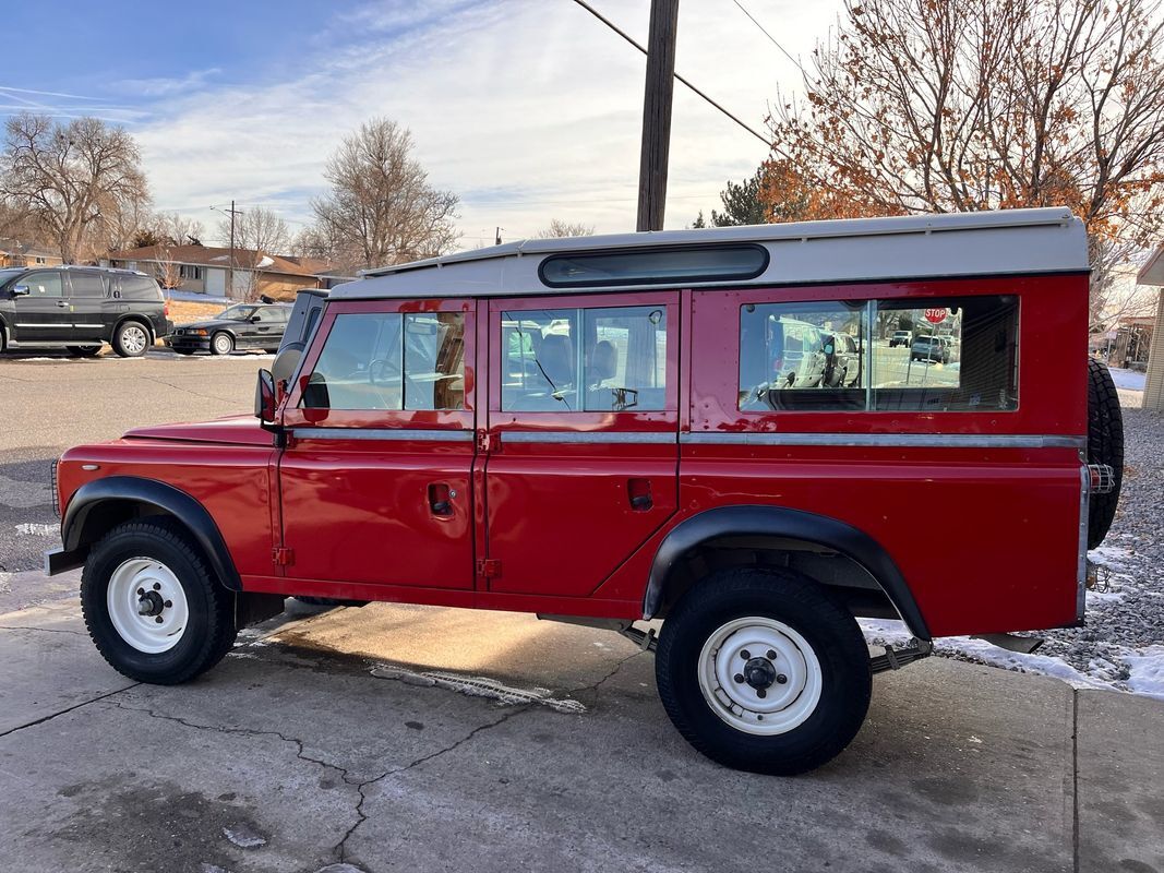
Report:
<svg viewBox="0 0 1164 873"><path fill-rule="evenodd" d="M747 304L740 310L739 407L863 410L867 305Z"/></svg>

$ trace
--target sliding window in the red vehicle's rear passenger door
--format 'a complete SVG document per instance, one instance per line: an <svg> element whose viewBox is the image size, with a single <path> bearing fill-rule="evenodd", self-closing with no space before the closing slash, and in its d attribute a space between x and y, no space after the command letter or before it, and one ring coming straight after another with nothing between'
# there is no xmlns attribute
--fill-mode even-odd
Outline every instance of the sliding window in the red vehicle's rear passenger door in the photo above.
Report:
<svg viewBox="0 0 1164 873"><path fill-rule="evenodd" d="M502 313L502 410L666 407L663 306Z"/></svg>

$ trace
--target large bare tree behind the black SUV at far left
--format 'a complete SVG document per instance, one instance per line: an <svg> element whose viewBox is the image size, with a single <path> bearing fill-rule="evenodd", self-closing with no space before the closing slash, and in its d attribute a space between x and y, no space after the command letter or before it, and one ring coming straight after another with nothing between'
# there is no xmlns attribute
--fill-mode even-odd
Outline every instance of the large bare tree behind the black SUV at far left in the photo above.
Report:
<svg viewBox="0 0 1164 873"><path fill-rule="evenodd" d="M98 220L148 200L134 139L100 119L58 125L47 115L8 120L0 197L34 215L61 246L65 263L83 254Z"/></svg>

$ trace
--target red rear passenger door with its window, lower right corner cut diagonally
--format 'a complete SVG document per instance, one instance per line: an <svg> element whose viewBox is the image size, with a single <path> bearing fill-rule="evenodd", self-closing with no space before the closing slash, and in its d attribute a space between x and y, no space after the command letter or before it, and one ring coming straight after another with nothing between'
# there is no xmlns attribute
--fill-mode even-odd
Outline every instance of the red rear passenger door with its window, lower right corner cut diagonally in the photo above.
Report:
<svg viewBox="0 0 1164 873"><path fill-rule="evenodd" d="M488 329L481 584L584 597L675 512L679 292L491 300Z"/></svg>

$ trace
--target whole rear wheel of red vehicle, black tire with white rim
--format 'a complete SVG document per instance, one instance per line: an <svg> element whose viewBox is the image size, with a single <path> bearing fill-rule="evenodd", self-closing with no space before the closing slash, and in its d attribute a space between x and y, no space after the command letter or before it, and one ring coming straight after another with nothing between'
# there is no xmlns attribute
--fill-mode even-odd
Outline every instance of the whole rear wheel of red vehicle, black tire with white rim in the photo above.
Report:
<svg viewBox="0 0 1164 873"><path fill-rule="evenodd" d="M795 775L857 736L872 693L857 622L789 570L731 569L691 588L662 626L659 696L697 751L736 769Z"/></svg>

